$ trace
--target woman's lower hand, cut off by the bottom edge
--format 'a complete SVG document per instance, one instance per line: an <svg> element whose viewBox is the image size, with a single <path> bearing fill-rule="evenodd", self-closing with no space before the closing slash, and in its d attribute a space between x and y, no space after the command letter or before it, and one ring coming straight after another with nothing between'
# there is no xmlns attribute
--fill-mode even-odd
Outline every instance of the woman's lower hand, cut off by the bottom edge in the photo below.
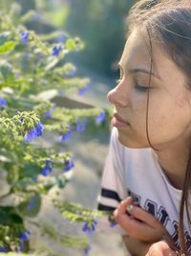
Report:
<svg viewBox="0 0 191 256"><path fill-rule="evenodd" d="M165 241L152 244L146 256L176 256L177 254Z"/></svg>

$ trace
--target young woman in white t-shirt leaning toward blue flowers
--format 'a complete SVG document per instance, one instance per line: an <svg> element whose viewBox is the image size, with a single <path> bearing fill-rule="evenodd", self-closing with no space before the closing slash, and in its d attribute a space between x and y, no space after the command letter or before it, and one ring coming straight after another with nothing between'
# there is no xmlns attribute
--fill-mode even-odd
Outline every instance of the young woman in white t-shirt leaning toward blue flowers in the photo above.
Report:
<svg viewBox="0 0 191 256"><path fill-rule="evenodd" d="M191 255L191 1L140 0L128 27L98 208L132 255Z"/></svg>

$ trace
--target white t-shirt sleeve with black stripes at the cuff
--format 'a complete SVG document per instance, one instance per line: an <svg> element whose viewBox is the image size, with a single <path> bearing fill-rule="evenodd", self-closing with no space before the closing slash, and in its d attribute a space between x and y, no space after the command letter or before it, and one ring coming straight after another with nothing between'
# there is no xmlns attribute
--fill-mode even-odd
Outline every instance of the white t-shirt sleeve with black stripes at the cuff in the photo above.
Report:
<svg viewBox="0 0 191 256"><path fill-rule="evenodd" d="M113 211L117 208L117 204L128 196L123 159L124 146L117 139L117 128L113 128L98 197L99 210Z"/></svg>

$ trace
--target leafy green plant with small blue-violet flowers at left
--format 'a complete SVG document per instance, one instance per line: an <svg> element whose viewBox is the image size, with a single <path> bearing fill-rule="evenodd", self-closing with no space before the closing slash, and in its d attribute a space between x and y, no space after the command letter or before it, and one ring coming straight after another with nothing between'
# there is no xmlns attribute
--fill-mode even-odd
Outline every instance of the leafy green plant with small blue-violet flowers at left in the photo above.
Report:
<svg viewBox="0 0 191 256"><path fill-rule="evenodd" d="M30 251L26 220L38 215L43 195L53 188L64 189L69 182L74 156L62 151L64 140L87 124L92 128L105 126L110 115L107 109L70 109L53 104L56 95L81 93L90 83L88 78L75 77L74 64L66 61L68 54L80 51L84 44L66 33L62 42L57 42L56 31L37 33L30 29L30 22L39 13L21 10L21 6L8 1L0 11L0 251L11 251L10 255ZM43 26L41 19L38 23ZM51 148L42 143L44 133L50 139L57 136ZM61 136L63 142L58 139ZM56 207L60 208L58 201ZM81 215L79 208L73 207L68 208L67 215L74 217L75 210L73 221L85 221L84 213L89 218L96 214L84 210ZM87 246L87 240L33 224L62 244Z"/></svg>

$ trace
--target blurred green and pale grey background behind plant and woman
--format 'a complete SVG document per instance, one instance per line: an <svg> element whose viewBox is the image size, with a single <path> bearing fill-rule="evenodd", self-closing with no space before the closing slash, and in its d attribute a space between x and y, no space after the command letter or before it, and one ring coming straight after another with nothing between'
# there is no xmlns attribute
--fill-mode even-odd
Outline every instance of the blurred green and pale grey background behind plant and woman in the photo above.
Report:
<svg viewBox="0 0 191 256"><path fill-rule="evenodd" d="M75 96L74 100L105 107L109 106L106 100L107 92L115 86L118 78L117 61L125 42L125 18L134 3L135 0L0 0L0 9L9 11L11 4L15 4L15 9L18 8L16 4L19 4L21 10L18 12L21 14L37 10L27 28L43 35L50 35L55 30L63 32L57 37L57 42L64 42L67 35L80 37L84 42L84 49L78 53L71 53L65 60L74 63L78 76L91 79L91 87L83 98ZM74 151L76 167L74 178L64 190L63 198L81 203L84 207L96 208L109 137L108 130L97 133L96 138L92 135L87 138L87 134L81 133L76 134L65 145L67 151ZM39 216L41 221L58 221L56 212L48 203L43 207L44 212L42 211ZM57 223L59 228L59 221ZM36 235L34 244L39 241L46 246L56 246L60 255L78 253L65 250L62 254L62 247L46 239L43 241ZM128 255L119 235L112 232L109 236L94 234L89 255L106 254Z"/></svg>

